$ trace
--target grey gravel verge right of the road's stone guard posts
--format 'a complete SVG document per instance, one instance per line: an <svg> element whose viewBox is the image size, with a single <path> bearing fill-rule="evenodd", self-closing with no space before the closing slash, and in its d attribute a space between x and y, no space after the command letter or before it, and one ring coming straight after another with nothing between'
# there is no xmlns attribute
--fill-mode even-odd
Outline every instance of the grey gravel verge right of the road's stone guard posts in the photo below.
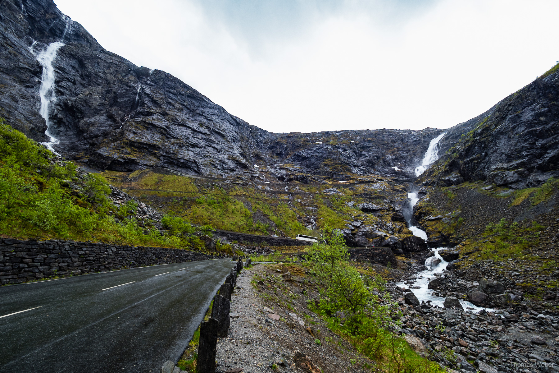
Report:
<svg viewBox="0 0 559 373"><path fill-rule="evenodd" d="M312 295L304 296L300 290L295 291L296 287L300 287L295 276L293 281L276 281L270 289L250 283L255 274L263 277L273 271L277 271L274 266L257 265L240 273L231 301L231 315L234 317L231 317L229 334L217 341L216 371L240 372L243 369L245 373L271 372L273 364L277 371L301 371L296 368L294 360L295 354L300 351L325 373L350 369L352 372L363 372L359 365L371 362L358 356L347 342L331 333L318 317L312 316L314 313L301 305ZM287 299L282 298L283 293L278 291L283 288L293 290L289 299L295 309L288 310L278 305ZM286 314L286 311L295 317ZM320 346L306 330L311 321L314 323L312 327L320 330Z"/></svg>

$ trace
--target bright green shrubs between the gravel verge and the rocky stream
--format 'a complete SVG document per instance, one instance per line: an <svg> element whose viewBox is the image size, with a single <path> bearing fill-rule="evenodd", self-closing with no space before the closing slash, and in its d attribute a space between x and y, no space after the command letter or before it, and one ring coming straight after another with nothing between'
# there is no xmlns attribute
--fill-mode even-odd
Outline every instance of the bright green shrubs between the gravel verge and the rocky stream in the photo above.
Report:
<svg viewBox="0 0 559 373"><path fill-rule="evenodd" d="M349 263L344 238L337 230L327 226L322 231L321 242L310 248L305 259L302 266L294 263L287 266L290 271L305 271L316 278L310 282L316 284L320 299L309 299L307 308L374 362L375 366L364 366L365 369L390 373L443 371L436 362L411 350L405 339L395 334L402 314L397 304L382 299L386 281L380 275L372 279L363 276ZM266 280L257 277L254 283ZM275 282L280 280L278 277ZM320 344L320 339L315 343Z"/></svg>

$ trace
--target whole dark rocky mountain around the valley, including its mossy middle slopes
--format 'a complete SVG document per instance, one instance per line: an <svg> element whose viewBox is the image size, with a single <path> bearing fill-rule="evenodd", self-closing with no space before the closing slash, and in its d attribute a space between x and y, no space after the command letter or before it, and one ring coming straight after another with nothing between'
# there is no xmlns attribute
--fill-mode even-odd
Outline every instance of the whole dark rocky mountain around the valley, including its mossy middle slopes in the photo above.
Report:
<svg viewBox="0 0 559 373"><path fill-rule="evenodd" d="M534 219L538 214L527 213L528 202L520 203L525 199L514 213L504 214L500 204L504 198L518 202L517 191L524 196L526 188L559 176L557 66L448 130L269 133L176 77L103 49L51 0L1 0L0 22L0 115L7 123L37 141L53 136L49 146L65 158L105 170L140 200L200 224L208 221L193 213L194 201L219 188L247 207L255 226L268 224L268 234L299 229L276 224L276 218L287 219L280 207L285 202L300 229L328 223L343 229L350 245L382 244L406 253L425 248L406 225L427 230L431 245L447 245L468 237L464 219L485 216L479 226L501 217ZM429 147L443 133L437 154ZM417 176L415 168L429 152L434 163ZM149 169L163 171L154 176L144 172ZM163 196L169 172L202 181L183 183L189 185L184 191L171 183ZM461 192L449 194L449 187ZM176 206L186 190L194 193L190 202ZM413 211L411 191L419 191ZM451 195L472 203L457 203ZM258 199L267 207L258 207ZM499 205L492 208L500 212L482 211L479 204ZM477 229L468 234L480 234Z"/></svg>

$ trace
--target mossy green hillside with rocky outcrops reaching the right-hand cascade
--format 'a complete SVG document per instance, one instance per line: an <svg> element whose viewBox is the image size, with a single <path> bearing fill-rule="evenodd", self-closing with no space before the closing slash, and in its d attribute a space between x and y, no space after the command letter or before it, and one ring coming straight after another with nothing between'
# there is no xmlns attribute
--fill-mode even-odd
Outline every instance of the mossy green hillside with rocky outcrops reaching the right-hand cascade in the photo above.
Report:
<svg viewBox="0 0 559 373"><path fill-rule="evenodd" d="M400 254L425 249L401 214L405 190L380 175L306 184L182 176L165 169L106 171L102 176L146 204L193 224L282 237L318 235L330 226L342 229L350 246L383 245Z"/></svg>

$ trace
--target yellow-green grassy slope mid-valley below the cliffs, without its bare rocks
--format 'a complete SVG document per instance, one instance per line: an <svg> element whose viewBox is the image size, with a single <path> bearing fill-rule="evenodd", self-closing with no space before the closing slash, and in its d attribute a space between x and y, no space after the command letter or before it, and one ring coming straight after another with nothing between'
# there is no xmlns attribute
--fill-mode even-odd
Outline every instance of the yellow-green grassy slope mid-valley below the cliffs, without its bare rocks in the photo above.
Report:
<svg viewBox="0 0 559 373"><path fill-rule="evenodd" d="M326 225L347 228L348 222L361 220L366 224L391 224L400 238L411 235L405 223L391 220L394 211L375 216L347 205L350 201L354 201L354 206L361 202L382 205L385 199L405 198L405 191L391 181L350 185L335 181L305 185L292 181L264 184L259 189L225 180L160 174L151 170L106 171L102 175L112 185L146 204L162 211L172 211L193 224L209 224L218 229L295 237L297 234L316 235ZM375 177L370 179L375 181ZM286 186L288 192L285 192ZM339 193L325 191L334 187ZM309 216L316 221L314 232L305 228L310 224Z"/></svg>

